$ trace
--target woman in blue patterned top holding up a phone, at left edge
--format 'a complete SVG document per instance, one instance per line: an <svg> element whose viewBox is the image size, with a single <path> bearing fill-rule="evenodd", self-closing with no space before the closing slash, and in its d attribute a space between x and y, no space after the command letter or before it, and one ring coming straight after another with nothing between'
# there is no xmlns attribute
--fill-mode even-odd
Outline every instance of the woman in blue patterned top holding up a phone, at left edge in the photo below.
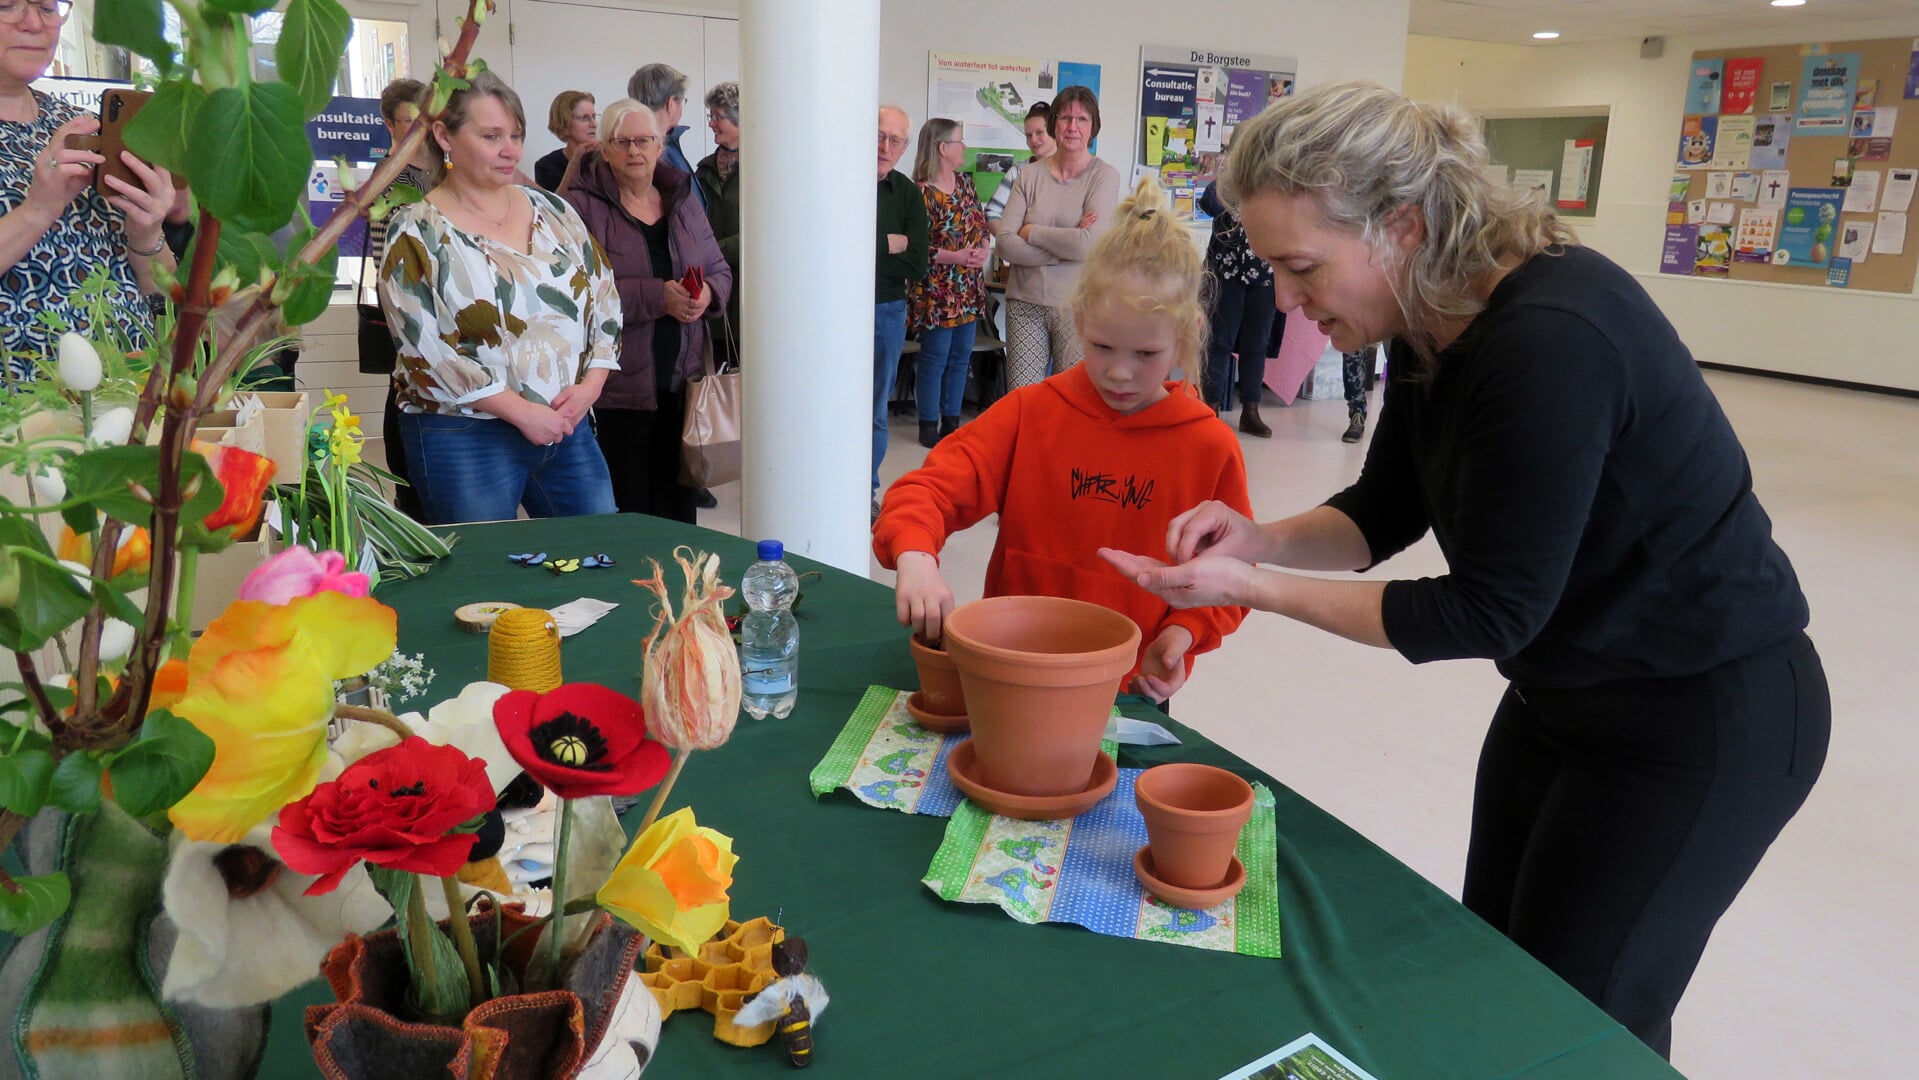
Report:
<svg viewBox="0 0 1919 1080"><path fill-rule="evenodd" d="M71 0L0 0L0 357L15 378L33 378L52 353L58 334L40 313L88 338L119 332L148 345L154 263L173 269L161 234L173 176L123 152L138 184L96 186L106 157L67 138L98 132L100 119L33 88L71 10ZM69 303L96 269L107 276L107 326Z"/></svg>

